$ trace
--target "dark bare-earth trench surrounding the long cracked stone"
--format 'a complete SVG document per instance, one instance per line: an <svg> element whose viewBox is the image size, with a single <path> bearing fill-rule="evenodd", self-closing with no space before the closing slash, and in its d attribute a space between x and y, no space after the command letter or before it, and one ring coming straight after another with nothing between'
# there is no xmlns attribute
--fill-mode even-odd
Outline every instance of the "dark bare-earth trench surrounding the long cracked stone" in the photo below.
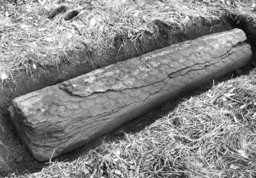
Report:
<svg viewBox="0 0 256 178"><path fill-rule="evenodd" d="M58 66L40 65L37 69L30 68L26 71L16 72L13 75L13 78L5 81L2 91L0 92L0 124L2 126L2 128L0 128L0 136L2 139L2 145L0 145L0 156L2 157L2 161L0 161L1 173L6 175L13 172L22 173L25 170L35 172L47 165L34 160L34 157L32 157L27 149L24 148L14 127L11 125L7 107L15 97L27 94L31 91L37 91L43 87L58 84L70 78L75 78L76 76L86 74L105 65L125 61L126 59L141 56L144 53L161 49L175 43L193 40L211 33L231 30L235 27L245 31L248 37L246 43L251 44L254 59L255 44L253 42L256 38L254 28L250 26L246 18L236 17L235 19L236 20L233 21L232 17L223 17L222 20L213 20L211 22L206 21L205 19L196 19L186 24L186 27L183 29L180 29L180 27L175 25L167 26L160 21L156 21L155 24L158 31L156 37L153 37L150 33L145 33L144 37L136 41L136 43L131 42L130 40L125 40L125 37L122 36L116 37L115 49L103 50L100 55L97 55L97 52L88 54L87 52L84 52L83 49L71 51L70 56L73 56L73 61L83 62L84 59L87 59L87 62L82 64L71 62L70 60L63 58L63 61L60 62ZM162 108L166 108L167 105L162 106ZM149 120L157 119L161 113L157 112L158 111L151 112L151 119ZM141 116L141 118L144 117ZM129 131L131 128L134 128L135 125L138 125L138 120L141 118L135 119L127 124L128 128L126 126L126 130ZM144 120L141 124L147 125L148 120ZM113 136L110 134L109 137L111 138ZM72 160L73 157L88 151L93 145L95 144L90 143L87 145L86 149L79 148L72 153L67 153L58 157L57 159L60 161L66 159L67 161Z"/></svg>

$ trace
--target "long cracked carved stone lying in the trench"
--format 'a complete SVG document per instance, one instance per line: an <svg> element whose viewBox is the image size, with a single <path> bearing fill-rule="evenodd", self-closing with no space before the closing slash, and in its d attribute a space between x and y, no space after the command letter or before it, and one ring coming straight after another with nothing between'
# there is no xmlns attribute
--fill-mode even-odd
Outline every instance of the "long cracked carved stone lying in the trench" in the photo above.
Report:
<svg viewBox="0 0 256 178"><path fill-rule="evenodd" d="M235 29L109 65L15 98L11 120L34 157L48 161L245 65L245 40Z"/></svg>

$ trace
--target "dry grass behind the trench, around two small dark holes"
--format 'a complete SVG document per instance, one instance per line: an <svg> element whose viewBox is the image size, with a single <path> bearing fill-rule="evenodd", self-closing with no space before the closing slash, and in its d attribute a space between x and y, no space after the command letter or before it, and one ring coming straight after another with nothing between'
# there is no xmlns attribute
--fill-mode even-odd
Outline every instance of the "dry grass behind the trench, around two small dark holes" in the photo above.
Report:
<svg viewBox="0 0 256 178"><path fill-rule="evenodd" d="M69 51L79 42L87 49L98 51L113 49L117 35L137 40L144 33L157 35L154 21L178 24L180 28L194 17L212 21L232 6L221 1L203 3L199 1L165 0L96 0L46 1L44 5L33 0L25 4L0 2L0 74L2 79L14 72L36 68L37 65L58 65L70 59ZM49 12L59 6L79 10L78 17L64 21L60 14L47 19ZM241 4L240 11L248 13L251 1ZM234 8L237 9L237 8ZM92 21L94 23L92 23ZM118 49L116 49L118 50Z"/></svg>

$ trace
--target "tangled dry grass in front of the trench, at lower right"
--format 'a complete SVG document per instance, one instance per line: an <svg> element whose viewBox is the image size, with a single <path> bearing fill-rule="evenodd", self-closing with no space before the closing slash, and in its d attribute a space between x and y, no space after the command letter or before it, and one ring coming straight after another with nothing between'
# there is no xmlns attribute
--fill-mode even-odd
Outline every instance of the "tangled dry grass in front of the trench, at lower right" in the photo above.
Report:
<svg viewBox="0 0 256 178"><path fill-rule="evenodd" d="M21 177L254 177L255 77L213 85L141 132Z"/></svg>

